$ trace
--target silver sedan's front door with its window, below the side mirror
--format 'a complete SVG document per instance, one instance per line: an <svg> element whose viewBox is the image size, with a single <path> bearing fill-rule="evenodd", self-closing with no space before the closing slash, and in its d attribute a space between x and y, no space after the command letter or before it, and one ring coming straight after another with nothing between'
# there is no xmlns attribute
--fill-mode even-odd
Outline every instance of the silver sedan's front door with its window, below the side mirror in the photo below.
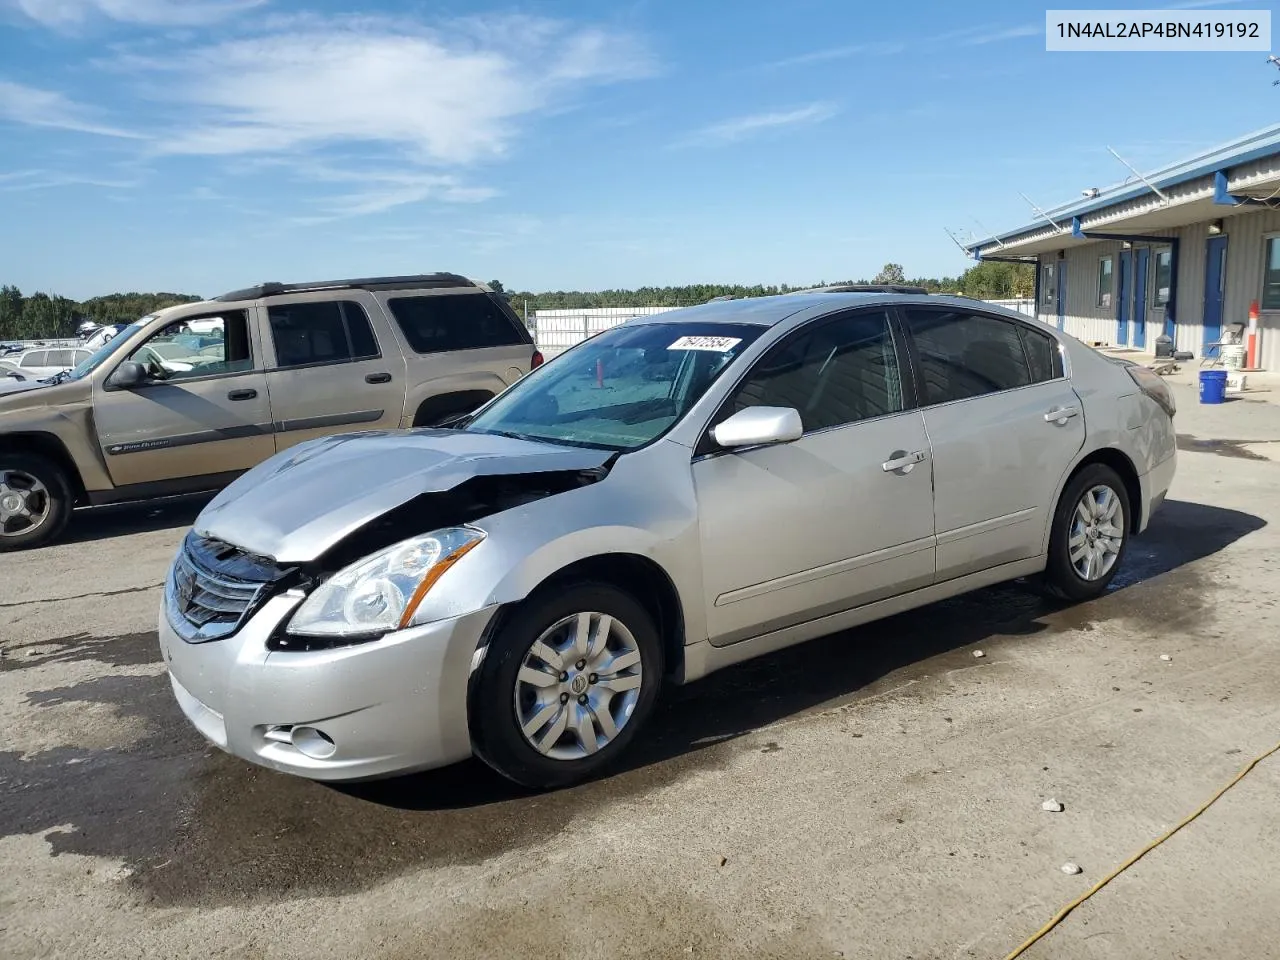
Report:
<svg viewBox="0 0 1280 960"><path fill-rule="evenodd" d="M890 312L876 308L790 334L735 389L713 425L750 406L794 407L805 434L694 461L713 644L933 581L929 442L906 369Z"/></svg>

